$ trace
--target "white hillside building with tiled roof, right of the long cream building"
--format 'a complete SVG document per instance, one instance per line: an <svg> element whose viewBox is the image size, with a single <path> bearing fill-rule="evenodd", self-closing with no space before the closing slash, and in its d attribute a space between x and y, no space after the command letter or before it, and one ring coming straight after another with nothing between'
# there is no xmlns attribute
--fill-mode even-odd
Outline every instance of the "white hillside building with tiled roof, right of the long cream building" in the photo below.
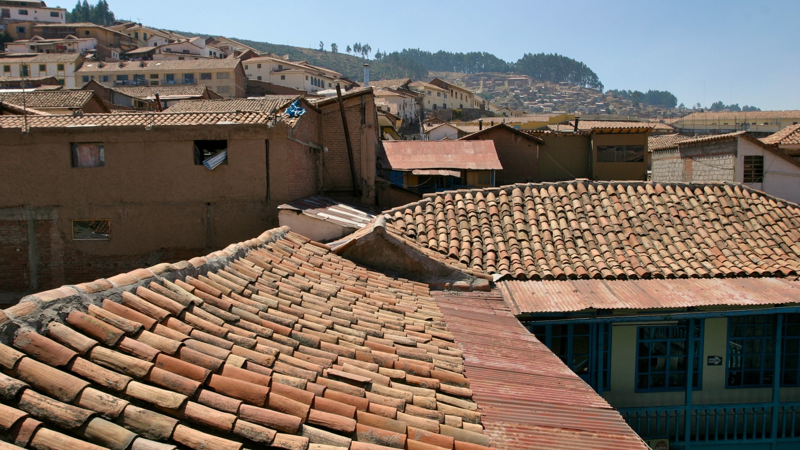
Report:
<svg viewBox="0 0 800 450"><path fill-rule="evenodd" d="M336 89L337 82L342 83L344 88L349 87L348 83L341 81L342 74L323 67L311 66L305 61L294 62L265 55L246 59L242 64L246 78L271 82L278 86L294 87L306 92Z"/></svg>

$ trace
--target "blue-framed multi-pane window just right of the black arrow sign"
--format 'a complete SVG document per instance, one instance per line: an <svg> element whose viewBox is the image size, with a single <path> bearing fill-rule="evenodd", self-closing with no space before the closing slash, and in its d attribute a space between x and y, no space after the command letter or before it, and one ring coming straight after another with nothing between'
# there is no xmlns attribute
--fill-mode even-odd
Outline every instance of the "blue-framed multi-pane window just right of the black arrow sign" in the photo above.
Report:
<svg viewBox="0 0 800 450"><path fill-rule="evenodd" d="M775 316L728 318L727 388L771 386L775 365Z"/></svg>

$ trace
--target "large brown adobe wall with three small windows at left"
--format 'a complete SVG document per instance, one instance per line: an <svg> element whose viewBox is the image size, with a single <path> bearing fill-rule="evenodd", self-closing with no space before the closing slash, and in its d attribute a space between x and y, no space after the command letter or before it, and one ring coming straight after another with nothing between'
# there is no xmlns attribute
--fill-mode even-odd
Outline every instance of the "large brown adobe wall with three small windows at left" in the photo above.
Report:
<svg viewBox="0 0 800 450"><path fill-rule="evenodd" d="M277 227L278 205L310 191L290 183L292 167L309 167L297 163L309 151L286 135L283 123L0 130L0 302L188 259ZM194 165L194 139L228 139L228 164ZM105 166L71 167L75 142L102 142ZM74 240L73 219L110 219L110 239Z"/></svg>

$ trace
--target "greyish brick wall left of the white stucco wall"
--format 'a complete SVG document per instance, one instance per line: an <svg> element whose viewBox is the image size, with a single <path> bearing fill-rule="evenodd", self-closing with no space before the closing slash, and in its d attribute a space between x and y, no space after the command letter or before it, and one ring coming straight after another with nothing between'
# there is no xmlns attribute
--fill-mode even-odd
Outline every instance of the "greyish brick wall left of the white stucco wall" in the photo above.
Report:
<svg viewBox="0 0 800 450"><path fill-rule="evenodd" d="M654 181L735 181L736 141L653 152Z"/></svg>

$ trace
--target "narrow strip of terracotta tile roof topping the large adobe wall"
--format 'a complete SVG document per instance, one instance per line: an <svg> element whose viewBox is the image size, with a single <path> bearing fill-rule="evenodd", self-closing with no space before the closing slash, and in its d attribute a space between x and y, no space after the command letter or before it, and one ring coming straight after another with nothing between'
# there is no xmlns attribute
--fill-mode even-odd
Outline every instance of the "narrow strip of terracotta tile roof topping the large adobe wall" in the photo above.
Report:
<svg viewBox="0 0 800 450"><path fill-rule="evenodd" d="M167 127L176 125L214 125L217 123L270 123L272 114L261 111L230 112L183 112L162 113L110 113L85 114L79 117L72 115L48 115L29 117L27 127ZM284 120L278 115L278 120ZM22 116L0 116L0 127L22 128L25 126Z"/></svg>

